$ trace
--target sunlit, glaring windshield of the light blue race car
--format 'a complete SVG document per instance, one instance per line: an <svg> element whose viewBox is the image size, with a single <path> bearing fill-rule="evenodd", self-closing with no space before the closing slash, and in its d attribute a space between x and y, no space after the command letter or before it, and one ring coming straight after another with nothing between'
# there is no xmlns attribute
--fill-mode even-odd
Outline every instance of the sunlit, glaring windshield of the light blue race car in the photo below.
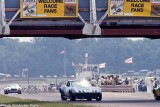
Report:
<svg viewBox="0 0 160 107"><path fill-rule="evenodd" d="M86 80L72 82L73 87L91 87L90 82Z"/></svg>

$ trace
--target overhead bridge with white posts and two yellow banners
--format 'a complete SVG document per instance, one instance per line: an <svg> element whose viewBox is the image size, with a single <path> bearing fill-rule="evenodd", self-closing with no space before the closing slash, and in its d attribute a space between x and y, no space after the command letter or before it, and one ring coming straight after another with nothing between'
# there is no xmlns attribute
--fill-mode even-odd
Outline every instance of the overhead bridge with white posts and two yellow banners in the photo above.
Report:
<svg viewBox="0 0 160 107"><path fill-rule="evenodd" d="M0 37L159 38L160 3L152 0L142 1L141 6L139 3L128 0L0 0ZM136 7L138 5L140 7ZM141 11L136 11L137 8Z"/></svg>

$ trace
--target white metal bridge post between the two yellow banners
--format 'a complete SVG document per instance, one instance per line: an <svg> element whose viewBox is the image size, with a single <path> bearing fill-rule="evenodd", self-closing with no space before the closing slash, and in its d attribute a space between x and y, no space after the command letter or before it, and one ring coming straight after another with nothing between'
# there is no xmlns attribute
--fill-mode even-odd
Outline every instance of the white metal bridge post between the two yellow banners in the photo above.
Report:
<svg viewBox="0 0 160 107"><path fill-rule="evenodd" d="M85 23L83 34L101 35L101 28L97 22L96 1L90 0L90 22Z"/></svg>

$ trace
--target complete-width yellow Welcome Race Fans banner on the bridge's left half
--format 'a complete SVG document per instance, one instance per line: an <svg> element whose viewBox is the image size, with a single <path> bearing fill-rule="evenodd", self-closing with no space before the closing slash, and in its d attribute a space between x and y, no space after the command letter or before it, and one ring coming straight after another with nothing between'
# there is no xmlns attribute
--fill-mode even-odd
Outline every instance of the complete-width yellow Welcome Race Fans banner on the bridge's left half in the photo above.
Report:
<svg viewBox="0 0 160 107"><path fill-rule="evenodd" d="M21 18L78 17L78 0L21 0Z"/></svg>

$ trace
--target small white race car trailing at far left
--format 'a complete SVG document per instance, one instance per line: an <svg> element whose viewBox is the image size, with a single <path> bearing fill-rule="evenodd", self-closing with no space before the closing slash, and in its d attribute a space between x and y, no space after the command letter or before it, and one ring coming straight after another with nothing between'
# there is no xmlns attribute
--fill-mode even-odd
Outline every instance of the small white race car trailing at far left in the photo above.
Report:
<svg viewBox="0 0 160 107"><path fill-rule="evenodd" d="M22 94L22 87L19 84L9 84L4 88L4 94L8 93L18 93Z"/></svg>

